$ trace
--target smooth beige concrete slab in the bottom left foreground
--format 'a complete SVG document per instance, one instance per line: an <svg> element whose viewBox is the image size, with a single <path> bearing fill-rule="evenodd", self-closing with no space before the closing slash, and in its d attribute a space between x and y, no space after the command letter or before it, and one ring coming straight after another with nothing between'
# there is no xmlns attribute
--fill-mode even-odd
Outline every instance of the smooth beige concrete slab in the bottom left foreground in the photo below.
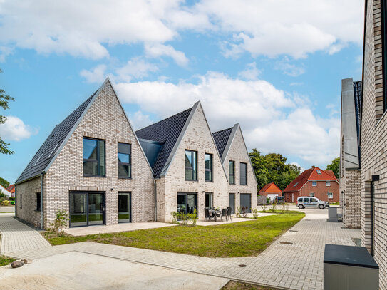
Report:
<svg viewBox="0 0 387 290"><path fill-rule="evenodd" d="M0 267L0 290L221 289L229 279L81 252Z"/></svg>

